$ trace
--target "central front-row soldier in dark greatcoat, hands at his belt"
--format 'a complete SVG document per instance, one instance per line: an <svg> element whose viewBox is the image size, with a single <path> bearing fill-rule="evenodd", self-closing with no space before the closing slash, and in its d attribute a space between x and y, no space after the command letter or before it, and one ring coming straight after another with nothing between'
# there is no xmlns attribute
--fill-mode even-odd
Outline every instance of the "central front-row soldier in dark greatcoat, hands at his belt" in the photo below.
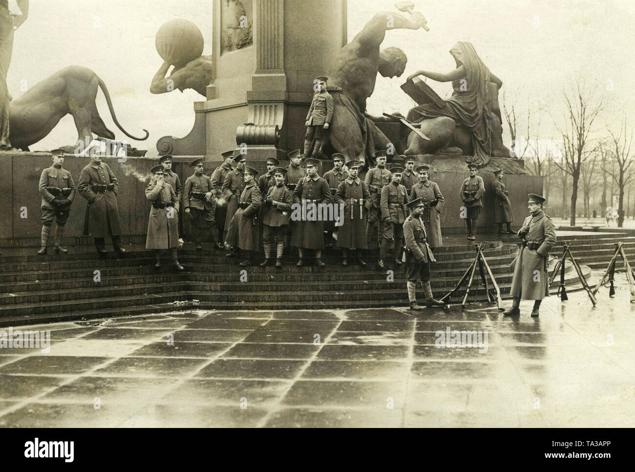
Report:
<svg viewBox="0 0 635 472"><path fill-rule="evenodd" d="M293 233L291 234L291 245L298 248L300 258L297 265L304 265L304 250L314 249L316 253L316 263L320 267L324 267L322 261L322 249L324 249L324 237L322 235L324 225L321 219L317 218L318 209L317 205L323 202L330 202L331 190L328 187L328 183L318 176L319 160L309 158L305 160L305 166L307 169L307 175L302 177L293 190L293 202L300 205L300 207L306 207L307 211L304 214L303 211L301 218L294 221ZM316 205L316 209L313 211L314 218L307 218L311 214L310 205Z"/></svg>

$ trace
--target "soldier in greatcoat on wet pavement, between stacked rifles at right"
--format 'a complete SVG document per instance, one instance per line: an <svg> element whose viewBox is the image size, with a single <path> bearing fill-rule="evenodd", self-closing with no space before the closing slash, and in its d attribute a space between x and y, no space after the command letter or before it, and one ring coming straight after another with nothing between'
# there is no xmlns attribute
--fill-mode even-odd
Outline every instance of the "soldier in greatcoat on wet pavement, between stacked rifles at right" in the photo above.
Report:
<svg viewBox="0 0 635 472"><path fill-rule="evenodd" d="M505 310L505 316L520 314L520 300L535 300L531 316L537 317L540 303L549 296L549 274L547 264L549 251L556 244L556 227L549 216L542 211L545 198L530 193L527 208L530 215L525 218L518 237L523 240L514 261L514 278L510 295L514 298L511 308Z"/></svg>

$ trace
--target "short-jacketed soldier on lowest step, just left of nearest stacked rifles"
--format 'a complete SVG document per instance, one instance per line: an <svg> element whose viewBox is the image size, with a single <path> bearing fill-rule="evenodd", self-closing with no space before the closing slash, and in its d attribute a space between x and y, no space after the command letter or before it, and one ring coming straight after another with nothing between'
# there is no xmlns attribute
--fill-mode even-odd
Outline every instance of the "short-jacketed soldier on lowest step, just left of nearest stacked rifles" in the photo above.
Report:
<svg viewBox="0 0 635 472"><path fill-rule="evenodd" d="M427 307L445 307L445 303L435 300L430 286L430 263L434 262L432 249L428 246L424 222L421 214L424 211L424 202L421 198L410 200L410 216L403 223L403 235L406 240L406 274L408 274L408 300L411 310L422 310L417 304L415 291L417 282L421 281L425 293L425 305Z"/></svg>

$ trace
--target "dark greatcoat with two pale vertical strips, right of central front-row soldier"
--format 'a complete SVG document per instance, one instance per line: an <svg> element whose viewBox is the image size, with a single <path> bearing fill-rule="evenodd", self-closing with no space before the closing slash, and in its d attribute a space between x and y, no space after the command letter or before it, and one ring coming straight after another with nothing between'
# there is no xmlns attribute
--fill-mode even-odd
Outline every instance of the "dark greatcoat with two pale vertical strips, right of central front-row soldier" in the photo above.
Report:
<svg viewBox="0 0 635 472"><path fill-rule="evenodd" d="M354 202L351 204L351 198L354 198ZM361 209L359 200L363 198L362 218L359 218L359 211ZM345 181L340 183L335 192L335 204L344 204L344 224L338 226L337 243L338 247L345 247L347 249L367 249L368 242L366 241L366 224L368 223L368 212L370 211L370 191L368 186L363 180L356 177L351 179L348 177ZM352 218L351 218L352 212Z"/></svg>

